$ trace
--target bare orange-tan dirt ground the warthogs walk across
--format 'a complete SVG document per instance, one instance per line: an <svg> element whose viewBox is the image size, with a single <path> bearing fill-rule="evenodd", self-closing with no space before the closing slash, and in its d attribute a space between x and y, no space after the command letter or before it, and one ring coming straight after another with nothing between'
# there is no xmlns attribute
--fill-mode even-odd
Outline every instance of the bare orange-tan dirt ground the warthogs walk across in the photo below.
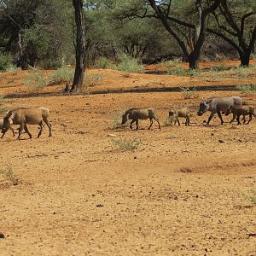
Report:
<svg viewBox="0 0 256 256"><path fill-rule="evenodd" d="M178 85L193 83L193 78L117 78L115 72L101 72L105 88L161 79L170 85L172 79ZM9 79L2 77L1 95L25 90L19 79ZM38 127L30 125L32 139L23 134L17 141L9 131L0 141L0 167L9 166L21 180L13 185L0 174L5 236L0 254L256 255L256 237L245 230L256 232L256 206L244 196L256 190L256 120L230 125L229 116L219 125L216 117L206 127L209 113L196 115L201 97L237 95L255 104L256 96L198 95L187 100L181 92L6 99L9 108L48 106L53 137L45 127L36 139ZM113 129L117 113L139 106L155 108L161 131L155 123L151 131L143 129L148 120L140 122L139 131ZM168 109L184 106L193 111L191 126L165 126ZM124 138L141 143L133 150L113 143Z"/></svg>

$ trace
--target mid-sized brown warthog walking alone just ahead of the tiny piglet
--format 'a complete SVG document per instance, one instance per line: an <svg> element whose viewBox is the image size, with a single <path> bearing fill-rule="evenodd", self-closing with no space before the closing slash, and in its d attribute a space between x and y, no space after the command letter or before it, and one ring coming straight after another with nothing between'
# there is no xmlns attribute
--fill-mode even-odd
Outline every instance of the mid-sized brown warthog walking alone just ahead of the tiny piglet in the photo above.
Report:
<svg viewBox="0 0 256 256"><path fill-rule="evenodd" d="M153 119L157 121L159 129L160 127L160 122L159 119L157 119L154 116L154 109L153 108L131 108L125 111L125 113L122 116L122 125L124 125L128 119L131 119L131 124L130 128L132 129L132 124L136 122L138 130L138 120L139 119L149 119L150 120L150 125L148 127L148 130L151 128L153 125Z"/></svg>

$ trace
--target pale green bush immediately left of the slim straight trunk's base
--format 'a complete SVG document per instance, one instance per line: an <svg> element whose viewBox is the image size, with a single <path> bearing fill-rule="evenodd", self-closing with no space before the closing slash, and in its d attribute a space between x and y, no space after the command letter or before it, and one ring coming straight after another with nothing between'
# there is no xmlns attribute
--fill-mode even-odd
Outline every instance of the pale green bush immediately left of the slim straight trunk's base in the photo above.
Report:
<svg viewBox="0 0 256 256"><path fill-rule="evenodd" d="M63 66L52 73L50 79L52 80L52 84L70 83L73 81L73 75L73 67Z"/></svg>

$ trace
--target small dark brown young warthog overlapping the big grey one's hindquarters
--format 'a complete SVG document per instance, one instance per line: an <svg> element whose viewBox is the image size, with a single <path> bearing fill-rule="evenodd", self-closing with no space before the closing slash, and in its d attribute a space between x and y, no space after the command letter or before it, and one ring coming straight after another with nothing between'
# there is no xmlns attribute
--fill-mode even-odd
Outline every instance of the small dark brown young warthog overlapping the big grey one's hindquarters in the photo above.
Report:
<svg viewBox="0 0 256 256"><path fill-rule="evenodd" d="M243 105L241 107L231 107L229 108L225 115L229 115L230 113L233 113L233 118L230 121L230 124L236 119L237 120L237 125L241 125L240 122L240 116L242 115L243 118L243 123L246 122L245 116L249 115L249 119L247 121L247 124L250 123L250 121L253 119L253 116L255 117L255 113L254 113L254 107L253 106L249 106L249 105Z"/></svg>

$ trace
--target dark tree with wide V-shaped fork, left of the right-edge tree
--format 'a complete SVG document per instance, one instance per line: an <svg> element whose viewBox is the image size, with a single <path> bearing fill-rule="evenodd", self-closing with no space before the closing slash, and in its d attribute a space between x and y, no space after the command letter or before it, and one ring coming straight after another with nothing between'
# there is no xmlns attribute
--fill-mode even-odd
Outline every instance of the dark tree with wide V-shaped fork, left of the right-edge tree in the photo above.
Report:
<svg viewBox="0 0 256 256"><path fill-rule="evenodd" d="M151 16L161 21L166 30L177 40L177 44L179 44L183 54L189 61L189 68L192 69L199 67L201 49L206 37L207 17L218 8L221 0L214 0L208 6L203 6L202 2L201 0L194 1L197 13L194 24L184 21L179 18L180 15L176 15L172 11L172 0L163 2L148 0L154 10L154 15L147 15L147 12L143 15L144 17Z"/></svg>

